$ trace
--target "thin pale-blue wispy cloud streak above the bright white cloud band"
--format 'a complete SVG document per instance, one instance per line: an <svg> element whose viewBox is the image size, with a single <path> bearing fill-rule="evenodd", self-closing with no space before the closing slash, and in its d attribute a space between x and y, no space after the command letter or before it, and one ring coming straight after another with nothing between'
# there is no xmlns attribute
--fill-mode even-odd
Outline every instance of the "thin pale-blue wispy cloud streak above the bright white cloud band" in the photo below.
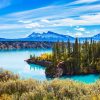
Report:
<svg viewBox="0 0 100 100"><path fill-rule="evenodd" d="M44 22L48 22L49 19L61 19L61 18L68 18L70 16L71 17L80 16L95 11L100 12L100 4L82 5L82 6L55 5L33 10L27 10L23 12L12 13L3 16L3 19L5 18L6 20L13 20L13 21L14 20L38 21L42 19Z"/></svg>

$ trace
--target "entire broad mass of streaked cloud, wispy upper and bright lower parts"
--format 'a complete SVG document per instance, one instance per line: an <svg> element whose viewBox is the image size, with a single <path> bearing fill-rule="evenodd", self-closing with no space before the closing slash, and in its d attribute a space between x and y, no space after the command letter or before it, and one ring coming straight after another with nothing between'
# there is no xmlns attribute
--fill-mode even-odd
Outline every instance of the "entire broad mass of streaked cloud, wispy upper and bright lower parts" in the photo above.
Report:
<svg viewBox="0 0 100 100"><path fill-rule="evenodd" d="M59 26L70 26L72 28L77 26L76 30L79 32L76 34L81 36L81 32L85 31L82 28L83 25L100 25L100 3L93 4L96 1L98 0L77 0L75 1L77 4L91 4L81 6L51 5L4 15L0 17L0 30L23 29L25 31L25 29L29 29L30 31L43 32L45 30L55 31Z"/></svg>

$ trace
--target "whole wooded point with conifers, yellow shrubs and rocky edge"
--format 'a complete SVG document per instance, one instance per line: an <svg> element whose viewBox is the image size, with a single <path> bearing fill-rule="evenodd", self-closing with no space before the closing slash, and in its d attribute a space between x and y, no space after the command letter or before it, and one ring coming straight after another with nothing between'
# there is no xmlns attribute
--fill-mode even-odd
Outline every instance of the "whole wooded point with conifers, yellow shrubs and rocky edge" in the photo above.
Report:
<svg viewBox="0 0 100 100"><path fill-rule="evenodd" d="M56 42L51 54L39 57L30 55L28 63L35 63L46 67L48 77L63 75L98 74L100 73L100 41L85 40L81 43L76 38L74 43Z"/></svg>

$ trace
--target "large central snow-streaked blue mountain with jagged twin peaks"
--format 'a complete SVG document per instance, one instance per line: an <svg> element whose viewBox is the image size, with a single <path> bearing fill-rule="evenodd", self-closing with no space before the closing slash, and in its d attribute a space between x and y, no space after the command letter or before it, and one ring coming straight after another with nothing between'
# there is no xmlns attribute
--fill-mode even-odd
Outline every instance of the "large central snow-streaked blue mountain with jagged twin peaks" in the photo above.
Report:
<svg viewBox="0 0 100 100"><path fill-rule="evenodd" d="M51 31L48 31L47 33L43 32L42 34L33 32L31 35L26 37L28 40L30 39L35 41L66 41L68 38L71 40L74 39L71 36L61 35Z"/></svg>

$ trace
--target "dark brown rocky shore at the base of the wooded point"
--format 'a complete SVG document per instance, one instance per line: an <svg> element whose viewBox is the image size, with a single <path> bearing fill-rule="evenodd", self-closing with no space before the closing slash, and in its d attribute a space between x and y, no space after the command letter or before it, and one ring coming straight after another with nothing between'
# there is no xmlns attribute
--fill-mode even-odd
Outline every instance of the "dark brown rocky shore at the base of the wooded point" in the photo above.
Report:
<svg viewBox="0 0 100 100"><path fill-rule="evenodd" d="M52 62L46 60L33 60L28 59L26 60L28 64L36 64L45 67L45 74L47 77L50 78L57 78L62 77L64 75L73 76L73 75L87 75L87 74L99 74L100 72L96 71L95 69L83 69L83 71L76 71L68 69L66 66L66 62L59 62L56 66L53 66ZM88 70L88 73L85 72Z"/></svg>

